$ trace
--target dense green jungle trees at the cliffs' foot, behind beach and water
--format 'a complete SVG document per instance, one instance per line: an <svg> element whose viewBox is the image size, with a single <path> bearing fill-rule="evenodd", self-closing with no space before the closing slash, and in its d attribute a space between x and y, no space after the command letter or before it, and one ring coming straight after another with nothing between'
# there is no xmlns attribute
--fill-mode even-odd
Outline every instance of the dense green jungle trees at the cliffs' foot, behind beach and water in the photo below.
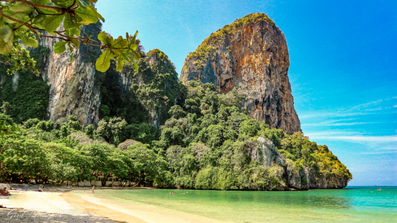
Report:
<svg viewBox="0 0 397 223"><path fill-rule="evenodd" d="M301 132L286 135L251 119L236 91L219 94L211 83L191 81L168 110L161 131L145 122L105 117L81 130L75 116L23 125L0 115L0 181L62 182L116 176L153 187L271 190L286 185L281 166L250 157L257 138L270 139L286 163L313 168L316 177L350 172ZM103 182L104 183L104 182Z"/></svg>

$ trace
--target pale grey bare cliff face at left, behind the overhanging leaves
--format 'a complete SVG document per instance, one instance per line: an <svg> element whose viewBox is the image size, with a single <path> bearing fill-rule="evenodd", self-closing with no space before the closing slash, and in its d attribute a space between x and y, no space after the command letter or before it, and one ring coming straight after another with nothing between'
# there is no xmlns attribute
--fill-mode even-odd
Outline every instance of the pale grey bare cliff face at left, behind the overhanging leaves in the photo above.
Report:
<svg viewBox="0 0 397 223"><path fill-rule="evenodd" d="M83 27L83 32L97 36L100 24ZM44 37L41 44L50 48L50 54L41 65L40 76L50 88L50 103L46 118L56 121L75 115L83 125L99 121L101 104L100 86L96 84L95 58L99 50L81 46L74 52L70 62L69 48L62 54L54 53L53 46L58 40ZM90 58L92 54L92 58Z"/></svg>

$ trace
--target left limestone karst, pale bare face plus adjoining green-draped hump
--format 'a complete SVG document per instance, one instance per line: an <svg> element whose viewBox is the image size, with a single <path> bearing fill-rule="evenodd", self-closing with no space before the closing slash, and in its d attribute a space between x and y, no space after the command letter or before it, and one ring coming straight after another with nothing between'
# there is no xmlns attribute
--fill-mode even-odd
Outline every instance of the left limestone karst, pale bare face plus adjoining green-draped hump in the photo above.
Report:
<svg viewBox="0 0 397 223"><path fill-rule="evenodd" d="M82 33L94 39L100 32L100 23L82 28ZM112 61L111 68L100 73L95 70L99 48L82 44L70 62L69 48L62 54L53 52L57 41L46 37L40 41L50 51L39 65L40 76L51 86L47 120L75 115L86 126L104 116L118 116L129 123L146 122L159 128L168 118L167 109L177 98L179 87L175 87L178 74L174 65L163 52L152 50L146 55L138 49L142 55L139 71L126 64L117 72ZM101 113L106 109L109 113Z"/></svg>

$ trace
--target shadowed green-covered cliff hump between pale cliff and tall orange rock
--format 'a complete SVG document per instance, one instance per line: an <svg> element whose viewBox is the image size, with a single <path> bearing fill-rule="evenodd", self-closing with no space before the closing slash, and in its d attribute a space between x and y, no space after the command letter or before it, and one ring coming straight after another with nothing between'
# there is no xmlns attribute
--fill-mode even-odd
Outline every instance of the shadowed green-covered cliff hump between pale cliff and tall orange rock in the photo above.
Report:
<svg viewBox="0 0 397 223"><path fill-rule="evenodd" d="M100 116L121 117L130 124L155 123L159 128L169 118L167 111L179 97L181 84L175 66L162 51L141 51L141 55L138 70L128 64L123 70L126 78L132 79L130 86L122 83L115 61L106 73L98 75Z"/></svg>

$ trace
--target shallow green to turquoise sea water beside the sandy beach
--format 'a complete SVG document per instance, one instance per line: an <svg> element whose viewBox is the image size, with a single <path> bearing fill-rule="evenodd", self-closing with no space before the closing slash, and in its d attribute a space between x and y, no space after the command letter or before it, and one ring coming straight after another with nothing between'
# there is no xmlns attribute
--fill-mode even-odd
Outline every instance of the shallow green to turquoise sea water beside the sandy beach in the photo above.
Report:
<svg viewBox="0 0 397 223"><path fill-rule="evenodd" d="M177 194L169 194L171 191ZM185 191L188 193L183 194ZM125 207L148 204L222 221L397 222L397 187L300 192L97 190L95 196Z"/></svg>

